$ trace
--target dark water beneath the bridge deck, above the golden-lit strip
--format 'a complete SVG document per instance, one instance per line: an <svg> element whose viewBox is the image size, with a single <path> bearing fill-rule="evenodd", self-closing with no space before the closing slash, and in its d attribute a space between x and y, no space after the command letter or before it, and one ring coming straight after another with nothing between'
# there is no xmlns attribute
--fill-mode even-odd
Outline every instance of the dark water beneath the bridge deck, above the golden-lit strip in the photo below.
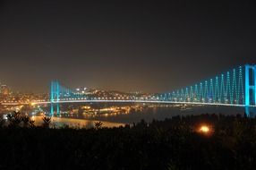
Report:
<svg viewBox="0 0 256 170"><path fill-rule="evenodd" d="M72 106L79 109L82 105ZM116 106L103 105L100 108ZM127 106L127 105L126 105ZM104 121L111 123L138 123L141 119L151 122L153 119L164 120L175 115L201 115L201 114L223 114L223 115L244 115L243 107L235 106L177 106L177 105L141 105L140 109L130 109L128 112L118 114L108 113L89 115L84 113L70 114L70 106L61 106L61 116L65 118L85 119L93 121Z"/></svg>

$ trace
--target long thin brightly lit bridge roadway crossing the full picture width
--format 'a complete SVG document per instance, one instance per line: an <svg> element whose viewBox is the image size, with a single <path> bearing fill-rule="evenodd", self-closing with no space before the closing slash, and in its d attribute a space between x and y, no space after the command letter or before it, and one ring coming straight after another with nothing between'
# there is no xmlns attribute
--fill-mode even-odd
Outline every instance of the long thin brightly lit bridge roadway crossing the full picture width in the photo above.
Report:
<svg viewBox="0 0 256 170"><path fill-rule="evenodd" d="M176 102L176 101L156 101L156 100L59 100L31 103L1 103L3 106L19 106L19 105L47 105L47 104L64 104L64 103L151 103L151 104L177 104L177 105L202 105L202 106L245 106L237 104L221 104L221 103L202 103L202 102ZM251 105L251 107L256 107Z"/></svg>

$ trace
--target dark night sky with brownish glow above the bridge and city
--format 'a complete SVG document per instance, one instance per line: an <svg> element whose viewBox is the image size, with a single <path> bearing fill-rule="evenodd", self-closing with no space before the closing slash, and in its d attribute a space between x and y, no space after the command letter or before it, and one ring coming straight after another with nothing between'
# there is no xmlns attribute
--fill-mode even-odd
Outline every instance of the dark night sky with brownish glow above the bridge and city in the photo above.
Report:
<svg viewBox="0 0 256 170"><path fill-rule="evenodd" d="M162 92L256 63L253 1L0 0L0 81Z"/></svg>

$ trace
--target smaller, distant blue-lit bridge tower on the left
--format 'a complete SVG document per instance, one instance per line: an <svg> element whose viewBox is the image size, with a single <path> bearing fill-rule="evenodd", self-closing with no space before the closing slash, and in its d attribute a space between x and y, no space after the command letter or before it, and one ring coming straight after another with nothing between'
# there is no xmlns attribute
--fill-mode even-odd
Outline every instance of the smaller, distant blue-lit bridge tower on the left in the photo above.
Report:
<svg viewBox="0 0 256 170"><path fill-rule="evenodd" d="M50 114L55 114L55 107L56 107L56 114L60 114L60 83L58 81L51 81L51 92L50 92L50 101L51 101L51 110Z"/></svg>

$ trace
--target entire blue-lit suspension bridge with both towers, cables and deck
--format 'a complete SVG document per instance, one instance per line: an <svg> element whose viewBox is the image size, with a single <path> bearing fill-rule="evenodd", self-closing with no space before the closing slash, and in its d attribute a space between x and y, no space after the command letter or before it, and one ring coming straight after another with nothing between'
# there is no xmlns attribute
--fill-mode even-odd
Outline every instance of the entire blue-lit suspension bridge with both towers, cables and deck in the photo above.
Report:
<svg viewBox="0 0 256 170"><path fill-rule="evenodd" d="M89 98L86 94L51 82L51 114L60 114L61 103L166 103L209 106L243 106L247 115L256 107L256 65L243 65L207 80L148 98ZM40 103L38 103L40 104Z"/></svg>

